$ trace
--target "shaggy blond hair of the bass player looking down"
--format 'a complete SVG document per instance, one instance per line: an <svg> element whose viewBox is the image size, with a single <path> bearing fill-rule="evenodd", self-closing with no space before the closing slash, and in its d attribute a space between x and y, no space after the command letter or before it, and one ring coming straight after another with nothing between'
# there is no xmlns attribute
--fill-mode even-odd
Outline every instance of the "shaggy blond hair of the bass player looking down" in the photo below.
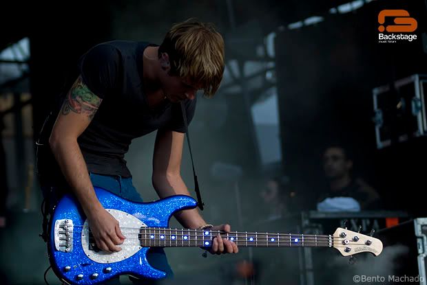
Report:
<svg viewBox="0 0 427 285"><path fill-rule="evenodd" d="M197 19L176 23L167 32L158 56L169 55L171 73L197 84L207 97L220 86L224 73L224 40L215 25Z"/></svg>

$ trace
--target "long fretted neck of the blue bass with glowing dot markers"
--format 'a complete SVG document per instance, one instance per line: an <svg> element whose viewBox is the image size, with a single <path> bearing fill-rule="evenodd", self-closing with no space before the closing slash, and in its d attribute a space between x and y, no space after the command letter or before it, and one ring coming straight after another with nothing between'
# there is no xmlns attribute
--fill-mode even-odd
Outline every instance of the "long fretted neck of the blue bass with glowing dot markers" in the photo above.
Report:
<svg viewBox="0 0 427 285"><path fill-rule="evenodd" d="M143 227L139 239L143 247L211 247L218 233L238 247L333 247L333 236L209 229Z"/></svg>

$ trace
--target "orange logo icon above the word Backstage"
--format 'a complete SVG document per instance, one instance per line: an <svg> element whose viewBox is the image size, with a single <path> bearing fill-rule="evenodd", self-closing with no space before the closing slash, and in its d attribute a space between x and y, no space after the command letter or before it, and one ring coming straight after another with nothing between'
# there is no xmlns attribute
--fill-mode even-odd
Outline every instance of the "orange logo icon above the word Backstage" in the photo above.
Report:
<svg viewBox="0 0 427 285"><path fill-rule="evenodd" d="M384 27L384 22L386 21L386 16L394 16L395 24L397 25L387 25ZM406 10L382 10L378 14L378 23L381 25L378 27L379 32L414 32L417 30L417 20L409 16L408 11Z"/></svg>

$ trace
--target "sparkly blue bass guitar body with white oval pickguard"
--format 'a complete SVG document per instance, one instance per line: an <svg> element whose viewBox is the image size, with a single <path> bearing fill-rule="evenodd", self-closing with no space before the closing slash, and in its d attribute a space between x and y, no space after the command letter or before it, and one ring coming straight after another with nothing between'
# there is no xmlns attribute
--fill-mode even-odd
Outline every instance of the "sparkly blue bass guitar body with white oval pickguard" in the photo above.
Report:
<svg viewBox="0 0 427 285"><path fill-rule="evenodd" d="M50 221L48 251L52 269L69 284L98 284L116 275L159 279L166 273L154 269L146 258L149 247L138 242L143 227L167 227L169 218L182 209L196 207L196 201L183 195L151 203L134 203L95 187L96 196L118 220L127 237L121 251L99 251L90 235L85 214L71 195L65 195Z"/></svg>

